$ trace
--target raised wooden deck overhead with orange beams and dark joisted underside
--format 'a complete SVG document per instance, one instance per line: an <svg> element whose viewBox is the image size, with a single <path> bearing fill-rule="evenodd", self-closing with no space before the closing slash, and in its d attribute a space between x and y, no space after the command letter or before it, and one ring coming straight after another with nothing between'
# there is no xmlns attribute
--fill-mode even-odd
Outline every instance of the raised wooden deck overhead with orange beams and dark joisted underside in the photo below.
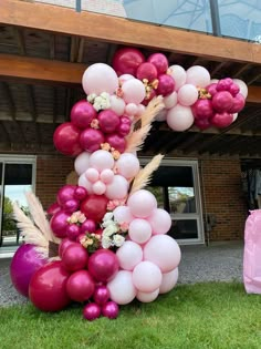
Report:
<svg viewBox="0 0 261 349"><path fill-rule="evenodd" d="M243 80L247 106L227 129L174 132L155 123L144 153L261 156L261 45L43 3L0 3L0 151L55 153L52 135L84 96L81 79L133 45L170 64L202 65L212 79Z"/></svg>

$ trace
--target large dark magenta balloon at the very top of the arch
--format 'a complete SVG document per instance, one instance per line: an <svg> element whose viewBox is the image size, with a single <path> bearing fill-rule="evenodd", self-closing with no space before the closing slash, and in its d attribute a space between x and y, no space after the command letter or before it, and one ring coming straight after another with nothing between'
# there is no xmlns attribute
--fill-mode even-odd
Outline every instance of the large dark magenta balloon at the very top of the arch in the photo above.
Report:
<svg viewBox="0 0 261 349"><path fill-rule="evenodd" d="M136 75L137 68L145 62L143 53L134 48L123 48L116 51L113 58L113 69L117 75Z"/></svg>

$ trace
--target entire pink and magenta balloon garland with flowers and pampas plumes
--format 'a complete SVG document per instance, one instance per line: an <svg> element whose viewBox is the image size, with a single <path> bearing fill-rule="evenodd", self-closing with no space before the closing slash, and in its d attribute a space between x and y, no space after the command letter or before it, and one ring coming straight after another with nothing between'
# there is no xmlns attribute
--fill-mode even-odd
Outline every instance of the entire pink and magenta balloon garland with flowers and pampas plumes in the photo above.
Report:
<svg viewBox="0 0 261 349"><path fill-rule="evenodd" d="M142 148L154 120L174 131L192 124L225 127L246 103L247 86L229 78L211 82L203 66L185 71L154 53L119 49L113 68L86 69L86 100L53 136L58 151L75 156L77 185L64 185L48 214L27 194L31 218L13 205L24 243L11 263L19 292L43 311L84 302L83 316L114 319L118 306L155 300L178 279L180 249L166 235L170 215L144 187L161 155L140 168Z"/></svg>

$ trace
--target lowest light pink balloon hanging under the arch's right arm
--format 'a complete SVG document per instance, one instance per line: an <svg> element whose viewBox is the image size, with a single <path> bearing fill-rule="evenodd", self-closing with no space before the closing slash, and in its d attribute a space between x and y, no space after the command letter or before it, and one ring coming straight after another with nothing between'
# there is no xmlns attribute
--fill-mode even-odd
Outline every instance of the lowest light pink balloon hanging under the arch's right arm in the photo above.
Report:
<svg viewBox="0 0 261 349"><path fill-rule="evenodd" d="M194 114L189 106L177 104L168 111L166 121L174 131L186 131L192 126Z"/></svg>

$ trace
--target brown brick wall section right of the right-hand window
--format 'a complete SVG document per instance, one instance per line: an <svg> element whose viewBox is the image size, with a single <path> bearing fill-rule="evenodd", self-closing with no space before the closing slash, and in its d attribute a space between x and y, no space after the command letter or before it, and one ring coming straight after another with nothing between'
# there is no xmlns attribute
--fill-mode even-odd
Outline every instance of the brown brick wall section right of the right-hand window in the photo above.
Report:
<svg viewBox="0 0 261 349"><path fill-rule="evenodd" d="M239 160L202 160L200 162L203 213L213 214L217 225L211 240L242 239L248 208L241 187Z"/></svg>

